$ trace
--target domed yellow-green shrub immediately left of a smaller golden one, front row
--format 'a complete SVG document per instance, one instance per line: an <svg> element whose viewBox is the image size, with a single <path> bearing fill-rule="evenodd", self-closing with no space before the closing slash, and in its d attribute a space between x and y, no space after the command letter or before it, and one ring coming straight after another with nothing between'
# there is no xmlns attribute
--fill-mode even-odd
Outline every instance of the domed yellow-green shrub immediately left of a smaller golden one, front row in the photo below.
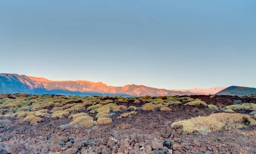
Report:
<svg viewBox="0 0 256 154"><path fill-rule="evenodd" d="M84 117L79 117L73 120L70 124L71 125L82 125L83 127L91 127L93 125L96 125L96 121L93 120L93 117L90 116L84 116Z"/></svg>

